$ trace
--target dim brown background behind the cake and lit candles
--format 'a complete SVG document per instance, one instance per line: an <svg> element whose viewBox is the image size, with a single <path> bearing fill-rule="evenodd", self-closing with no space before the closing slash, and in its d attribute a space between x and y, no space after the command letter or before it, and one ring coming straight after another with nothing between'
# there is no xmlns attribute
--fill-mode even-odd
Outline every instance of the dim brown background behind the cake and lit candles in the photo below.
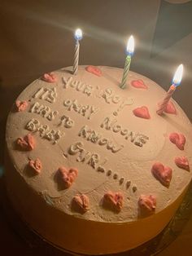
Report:
<svg viewBox="0 0 192 256"><path fill-rule="evenodd" d="M84 33L80 64L123 68L130 34L136 42L131 69L150 77L165 90L177 65L184 64L184 77L173 98L192 120L191 1L0 0L1 165L11 104L24 87L42 73L72 65L73 33L77 27ZM28 249L24 253L20 251L22 242L18 243L7 224L3 221L1 224L1 219L2 246L7 248L10 240L17 254L29 254ZM191 255L191 234L190 222L184 236L164 255L180 255L186 248L183 255Z"/></svg>

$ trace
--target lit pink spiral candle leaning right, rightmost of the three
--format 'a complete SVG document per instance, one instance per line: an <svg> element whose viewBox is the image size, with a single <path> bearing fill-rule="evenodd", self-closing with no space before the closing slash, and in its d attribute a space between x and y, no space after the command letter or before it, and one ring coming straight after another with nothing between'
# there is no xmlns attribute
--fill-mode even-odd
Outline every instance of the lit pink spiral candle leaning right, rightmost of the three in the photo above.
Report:
<svg viewBox="0 0 192 256"><path fill-rule="evenodd" d="M176 70L176 73L174 74L174 77L172 78L172 86L170 86L167 95L164 97L163 101L159 104L159 108L157 110L157 113L159 115L162 115L164 113L164 109L166 108L169 99L171 99L173 92L176 90L177 86L180 85L181 79L183 75L183 64L180 64Z"/></svg>

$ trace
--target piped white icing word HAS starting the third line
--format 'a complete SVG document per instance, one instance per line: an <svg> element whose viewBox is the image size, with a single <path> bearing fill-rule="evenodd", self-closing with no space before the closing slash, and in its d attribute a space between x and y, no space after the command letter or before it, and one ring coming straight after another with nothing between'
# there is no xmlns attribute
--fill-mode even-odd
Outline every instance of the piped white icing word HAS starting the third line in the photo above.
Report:
<svg viewBox="0 0 192 256"><path fill-rule="evenodd" d="M29 112L37 113L37 114L41 115L41 117L45 117L49 121L54 120L55 117L59 113L58 111L51 111L50 107L43 105L43 104L39 104L38 102L33 104L32 108L30 108Z"/></svg>

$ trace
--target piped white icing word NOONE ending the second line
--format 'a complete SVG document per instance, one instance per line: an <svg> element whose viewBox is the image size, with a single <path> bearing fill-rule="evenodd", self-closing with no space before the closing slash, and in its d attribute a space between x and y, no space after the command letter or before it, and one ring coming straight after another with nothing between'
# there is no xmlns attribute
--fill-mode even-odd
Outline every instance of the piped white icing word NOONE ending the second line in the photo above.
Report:
<svg viewBox="0 0 192 256"><path fill-rule="evenodd" d="M139 132L134 132L129 129L124 129L120 124L117 123L116 119L112 119L111 117L106 117L100 125L103 129L111 130L114 133L120 133L120 135L124 136L124 139L128 140L131 143L134 143L138 147L142 147L143 144L149 139L148 136L142 135Z"/></svg>

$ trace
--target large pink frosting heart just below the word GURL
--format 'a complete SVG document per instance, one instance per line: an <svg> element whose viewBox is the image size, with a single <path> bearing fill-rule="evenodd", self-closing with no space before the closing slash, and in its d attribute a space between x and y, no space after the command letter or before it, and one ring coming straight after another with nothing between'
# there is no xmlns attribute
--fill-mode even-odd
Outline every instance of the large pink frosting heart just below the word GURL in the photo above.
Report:
<svg viewBox="0 0 192 256"><path fill-rule="evenodd" d="M64 188L69 188L72 186L72 183L76 179L76 176L78 174L78 170L75 168L71 168L67 170L65 167L59 167L58 170L59 177L63 181Z"/></svg>

